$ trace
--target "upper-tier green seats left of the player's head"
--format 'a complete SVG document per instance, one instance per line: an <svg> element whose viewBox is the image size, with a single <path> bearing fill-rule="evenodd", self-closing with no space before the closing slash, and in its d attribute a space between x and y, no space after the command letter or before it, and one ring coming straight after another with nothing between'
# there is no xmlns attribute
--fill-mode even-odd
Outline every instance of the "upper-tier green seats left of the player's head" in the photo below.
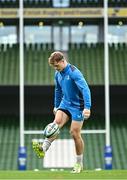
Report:
<svg viewBox="0 0 127 180"><path fill-rule="evenodd" d="M25 84L40 85L53 81L54 71L48 65L48 57L53 52L52 44L25 45ZM47 51L48 49L48 51ZM0 84L19 83L19 45L0 46Z"/></svg>

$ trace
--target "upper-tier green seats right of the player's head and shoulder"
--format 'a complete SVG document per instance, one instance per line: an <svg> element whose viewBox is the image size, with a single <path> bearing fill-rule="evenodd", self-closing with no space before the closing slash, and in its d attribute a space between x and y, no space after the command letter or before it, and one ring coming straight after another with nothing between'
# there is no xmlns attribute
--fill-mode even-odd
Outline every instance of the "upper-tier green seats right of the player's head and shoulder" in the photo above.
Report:
<svg viewBox="0 0 127 180"><path fill-rule="evenodd" d="M126 53L125 44L109 46L111 84L127 84ZM104 47L102 43L70 44L68 58L71 63L80 68L90 84L104 84Z"/></svg>

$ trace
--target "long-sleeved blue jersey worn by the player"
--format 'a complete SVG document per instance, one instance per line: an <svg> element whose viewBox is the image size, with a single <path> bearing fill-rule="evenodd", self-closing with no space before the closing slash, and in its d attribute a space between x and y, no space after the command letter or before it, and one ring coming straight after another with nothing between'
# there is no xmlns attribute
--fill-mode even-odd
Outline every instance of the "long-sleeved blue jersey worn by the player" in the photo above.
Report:
<svg viewBox="0 0 127 180"><path fill-rule="evenodd" d="M82 73L73 65L67 64L61 72L55 73L54 105L59 107L61 101L79 109L90 109L91 93Z"/></svg>

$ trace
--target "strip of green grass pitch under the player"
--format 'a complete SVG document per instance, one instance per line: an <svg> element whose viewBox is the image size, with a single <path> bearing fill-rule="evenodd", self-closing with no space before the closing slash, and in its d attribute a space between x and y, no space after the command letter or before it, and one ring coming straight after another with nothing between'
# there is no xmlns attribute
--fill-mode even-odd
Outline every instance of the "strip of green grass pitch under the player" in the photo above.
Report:
<svg viewBox="0 0 127 180"><path fill-rule="evenodd" d="M71 174L70 171L0 171L0 179L127 179L127 170L86 170L80 174Z"/></svg>

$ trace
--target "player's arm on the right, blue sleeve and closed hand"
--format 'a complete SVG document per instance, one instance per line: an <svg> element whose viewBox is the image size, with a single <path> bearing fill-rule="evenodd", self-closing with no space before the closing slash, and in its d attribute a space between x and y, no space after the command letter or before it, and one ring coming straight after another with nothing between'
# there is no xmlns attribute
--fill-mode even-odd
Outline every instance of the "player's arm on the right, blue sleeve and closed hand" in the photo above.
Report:
<svg viewBox="0 0 127 180"><path fill-rule="evenodd" d="M78 70L72 73L72 79L75 81L77 87L79 88L80 92L83 95L83 99L84 99L83 114L85 118L89 118L90 108L91 108L91 93L88 84L84 79L82 73Z"/></svg>

